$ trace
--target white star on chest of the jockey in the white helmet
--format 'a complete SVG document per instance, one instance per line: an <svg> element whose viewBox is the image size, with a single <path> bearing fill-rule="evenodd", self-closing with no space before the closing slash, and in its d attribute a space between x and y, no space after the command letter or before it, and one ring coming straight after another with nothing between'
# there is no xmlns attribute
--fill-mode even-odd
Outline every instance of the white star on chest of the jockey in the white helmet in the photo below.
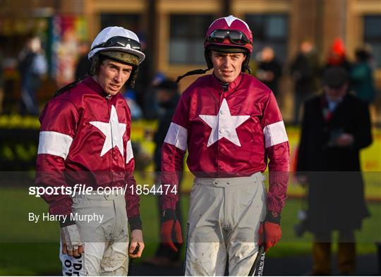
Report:
<svg viewBox="0 0 381 277"><path fill-rule="evenodd" d="M110 121L108 123L90 121L90 124L97 127L106 136L100 156L103 156L109 149L114 147L118 147L123 156L123 135L126 132L126 124L119 123L118 113L116 113L114 105L111 106Z"/></svg>

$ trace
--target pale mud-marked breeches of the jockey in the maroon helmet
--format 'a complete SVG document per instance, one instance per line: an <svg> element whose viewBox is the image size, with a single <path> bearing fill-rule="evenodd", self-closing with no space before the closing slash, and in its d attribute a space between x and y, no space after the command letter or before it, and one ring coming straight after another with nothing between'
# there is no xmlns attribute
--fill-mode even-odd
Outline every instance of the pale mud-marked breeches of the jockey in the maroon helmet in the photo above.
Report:
<svg viewBox="0 0 381 277"><path fill-rule="evenodd" d="M186 276L248 276L266 214L262 173L195 178L188 215Z"/></svg>

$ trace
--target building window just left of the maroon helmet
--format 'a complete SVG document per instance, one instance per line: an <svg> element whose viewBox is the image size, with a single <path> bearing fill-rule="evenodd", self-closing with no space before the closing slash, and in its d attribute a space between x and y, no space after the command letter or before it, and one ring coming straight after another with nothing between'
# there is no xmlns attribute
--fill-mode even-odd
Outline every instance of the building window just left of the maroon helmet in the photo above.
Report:
<svg viewBox="0 0 381 277"><path fill-rule="evenodd" d="M171 15L169 63L205 63L205 32L213 19L212 15Z"/></svg>

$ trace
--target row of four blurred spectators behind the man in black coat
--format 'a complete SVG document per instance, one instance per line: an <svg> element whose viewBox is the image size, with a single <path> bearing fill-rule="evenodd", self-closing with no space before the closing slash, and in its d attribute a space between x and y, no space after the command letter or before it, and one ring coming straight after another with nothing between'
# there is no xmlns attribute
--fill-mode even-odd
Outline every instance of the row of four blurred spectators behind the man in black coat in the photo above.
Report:
<svg viewBox="0 0 381 277"><path fill-rule="evenodd" d="M375 100L373 80L372 49L368 46L358 47L355 61L349 61L344 42L337 37L332 42L324 63L319 62L319 53L309 40L300 44L298 54L289 65L282 65L271 47L264 47L256 56L255 75L262 80L282 106L279 82L282 75L289 74L294 82L294 123L300 120L301 106L308 97L322 89L321 79L325 70L334 66L343 67L350 75L350 90L358 98L372 104ZM283 68L283 70L282 70Z"/></svg>

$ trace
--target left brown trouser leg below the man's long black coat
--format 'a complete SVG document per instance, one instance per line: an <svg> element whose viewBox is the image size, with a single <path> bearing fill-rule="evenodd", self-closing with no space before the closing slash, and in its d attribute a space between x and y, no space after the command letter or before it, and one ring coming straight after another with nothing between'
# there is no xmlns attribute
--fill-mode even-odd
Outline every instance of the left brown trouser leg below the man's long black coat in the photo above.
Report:
<svg viewBox="0 0 381 277"><path fill-rule="evenodd" d="M311 275L330 275L331 243L313 242L313 271Z"/></svg>

